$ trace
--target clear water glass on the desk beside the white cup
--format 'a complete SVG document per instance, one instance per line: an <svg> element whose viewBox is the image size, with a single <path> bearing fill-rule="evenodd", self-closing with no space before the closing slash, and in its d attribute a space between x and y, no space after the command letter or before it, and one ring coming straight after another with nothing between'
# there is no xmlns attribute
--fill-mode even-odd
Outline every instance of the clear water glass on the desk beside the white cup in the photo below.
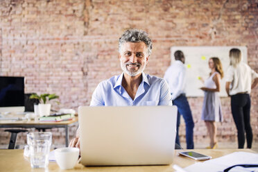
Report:
<svg viewBox="0 0 258 172"><path fill-rule="evenodd" d="M31 132L27 135L31 167L46 168L49 165L49 152L52 142L51 132Z"/></svg>

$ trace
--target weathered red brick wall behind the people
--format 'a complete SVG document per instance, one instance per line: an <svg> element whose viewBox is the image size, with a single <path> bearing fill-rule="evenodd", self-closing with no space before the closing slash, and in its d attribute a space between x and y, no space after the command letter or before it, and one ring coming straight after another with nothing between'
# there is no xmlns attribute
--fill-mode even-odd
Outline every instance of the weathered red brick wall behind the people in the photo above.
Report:
<svg viewBox="0 0 258 172"><path fill-rule="evenodd" d="M258 1L1 1L0 75L25 76L25 92L55 93L60 107L89 105L96 85L120 74L117 41L128 28L153 39L146 73L162 77L171 46L247 46L258 72ZM252 90L252 128L258 142L258 89ZM220 141L236 141L230 98L221 98L225 121ZM206 138L200 120L203 98L189 98L195 141ZM71 128L71 137L76 127ZM180 135L184 139L184 123ZM62 129L58 132L64 133ZM0 144L10 135L0 131ZM59 137L55 136L55 140ZM8 141L6 141L7 143ZM60 138L60 142L64 140Z"/></svg>

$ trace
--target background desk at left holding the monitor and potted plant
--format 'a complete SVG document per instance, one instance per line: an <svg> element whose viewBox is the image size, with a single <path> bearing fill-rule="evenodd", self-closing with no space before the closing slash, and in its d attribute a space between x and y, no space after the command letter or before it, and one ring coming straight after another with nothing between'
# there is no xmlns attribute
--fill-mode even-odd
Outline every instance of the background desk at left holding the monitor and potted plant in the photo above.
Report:
<svg viewBox="0 0 258 172"><path fill-rule="evenodd" d="M44 122L44 121L0 121L0 128L65 128L65 146L68 146L68 137L69 130L68 126L71 123L75 123L78 121L78 117L74 117L74 119L69 121L60 121L60 122Z"/></svg>

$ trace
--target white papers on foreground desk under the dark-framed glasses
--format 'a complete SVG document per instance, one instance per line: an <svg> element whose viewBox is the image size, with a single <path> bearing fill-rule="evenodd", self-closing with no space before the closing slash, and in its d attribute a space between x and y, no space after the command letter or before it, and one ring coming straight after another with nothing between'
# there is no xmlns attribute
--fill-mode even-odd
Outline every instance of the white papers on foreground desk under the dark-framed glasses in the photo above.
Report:
<svg viewBox="0 0 258 172"><path fill-rule="evenodd" d="M257 153L246 153L246 152L236 152L230 153L229 155L225 155L223 157L218 157L214 160L207 160L205 162L198 162L196 164L192 164L191 166L187 166L184 168L189 172L218 172L227 169L227 167L236 165L236 164L258 164L258 154ZM257 171L258 168L243 168L243 167L235 167L230 170L232 171Z"/></svg>

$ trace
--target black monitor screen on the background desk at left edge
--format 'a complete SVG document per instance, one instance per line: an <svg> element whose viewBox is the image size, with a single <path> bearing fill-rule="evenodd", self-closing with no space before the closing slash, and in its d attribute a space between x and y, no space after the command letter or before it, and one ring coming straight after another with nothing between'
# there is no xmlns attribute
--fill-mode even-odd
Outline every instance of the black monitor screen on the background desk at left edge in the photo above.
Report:
<svg viewBox="0 0 258 172"><path fill-rule="evenodd" d="M24 77L0 76L0 107L24 106Z"/></svg>

